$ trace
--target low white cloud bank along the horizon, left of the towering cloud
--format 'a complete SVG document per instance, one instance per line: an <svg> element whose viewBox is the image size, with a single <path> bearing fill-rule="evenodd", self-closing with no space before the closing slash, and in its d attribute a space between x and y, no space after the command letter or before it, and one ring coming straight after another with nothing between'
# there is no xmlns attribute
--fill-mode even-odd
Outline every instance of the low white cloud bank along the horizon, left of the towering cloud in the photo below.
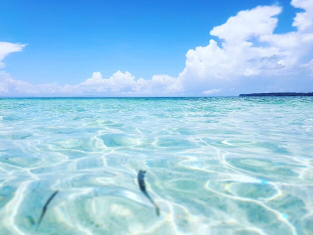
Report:
<svg viewBox="0 0 313 235"><path fill-rule="evenodd" d="M115 72L109 78L102 78L100 72L93 72L85 81L61 86L57 83L31 84L12 79L8 73L0 80L0 94L7 96L167 96L183 95L180 80L168 75L154 75L151 79L135 79L129 72Z"/></svg>

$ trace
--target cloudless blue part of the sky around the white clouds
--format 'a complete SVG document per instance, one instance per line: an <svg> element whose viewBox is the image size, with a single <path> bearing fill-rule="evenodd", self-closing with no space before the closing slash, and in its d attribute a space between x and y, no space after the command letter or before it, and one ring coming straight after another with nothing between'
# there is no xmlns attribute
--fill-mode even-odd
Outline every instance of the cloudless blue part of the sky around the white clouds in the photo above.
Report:
<svg viewBox="0 0 313 235"><path fill-rule="evenodd" d="M308 0L294 1L310 9L309 3L306 3ZM210 35L210 30L224 24L237 12L258 5L279 7L279 13L268 16L277 18L272 34L287 34L298 31L296 26L292 26L293 18L296 13L307 10L292 6L289 0L1 0L0 5L0 41L24 44L21 52L6 54L2 59L5 64L0 68L2 80L9 77L33 85L56 82L60 86L78 84L98 71L102 79L111 77L118 70L130 72L134 80L140 77L150 80L157 74L177 78L186 68L186 52L189 49L205 47L210 39L222 47L225 39ZM306 20L310 20L310 17ZM246 40L256 46L264 43L253 36ZM271 46L268 41L266 43L264 46ZM308 43L305 46L311 45ZM277 55L277 52L273 55ZM282 58L285 55L279 56ZM309 55L301 56L303 61L299 61L298 65L305 67L303 64L307 64L306 67L310 67ZM232 87L223 88L215 80L210 85L212 76L214 79L218 77L208 74L203 88L223 90L223 95L227 95L226 89L229 91ZM252 76L255 76L254 73ZM237 84L240 82L237 80ZM309 78L306 83L311 84ZM250 86L253 88L253 82L246 84L246 87ZM276 85L275 89L278 88L279 85ZM205 90L182 89L176 94L205 94ZM162 93L161 88L157 90L155 95ZM117 93L121 94L120 91ZM122 92L133 91L133 87L128 87ZM18 90L14 92L16 94ZM105 95L112 91L103 89L101 92L97 94ZM149 95L153 94L151 92Z"/></svg>

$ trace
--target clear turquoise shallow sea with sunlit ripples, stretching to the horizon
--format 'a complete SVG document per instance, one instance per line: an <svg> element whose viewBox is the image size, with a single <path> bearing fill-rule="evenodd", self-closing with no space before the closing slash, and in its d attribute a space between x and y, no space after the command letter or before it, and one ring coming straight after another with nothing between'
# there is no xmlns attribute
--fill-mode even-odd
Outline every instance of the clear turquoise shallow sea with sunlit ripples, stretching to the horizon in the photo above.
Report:
<svg viewBox="0 0 313 235"><path fill-rule="evenodd" d="M312 104L2 98L0 234L313 234Z"/></svg>

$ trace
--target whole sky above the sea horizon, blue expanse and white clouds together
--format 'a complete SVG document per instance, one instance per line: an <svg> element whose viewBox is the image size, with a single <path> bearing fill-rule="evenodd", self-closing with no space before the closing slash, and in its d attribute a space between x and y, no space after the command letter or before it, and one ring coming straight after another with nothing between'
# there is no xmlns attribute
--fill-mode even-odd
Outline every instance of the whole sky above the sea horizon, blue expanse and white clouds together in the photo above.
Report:
<svg viewBox="0 0 313 235"><path fill-rule="evenodd" d="M313 0L0 0L0 96L313 91Z"/></svg>

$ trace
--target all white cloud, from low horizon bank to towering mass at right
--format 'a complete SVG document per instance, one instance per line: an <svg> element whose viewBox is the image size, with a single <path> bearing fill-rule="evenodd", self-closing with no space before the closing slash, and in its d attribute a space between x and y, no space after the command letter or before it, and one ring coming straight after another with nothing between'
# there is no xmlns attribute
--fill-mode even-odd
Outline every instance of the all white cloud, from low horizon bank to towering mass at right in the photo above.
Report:
<svg viewBox="0 0 313 235"><path fill-rule="evenodd" d="M306 89L313 87L313 1L292 0L291 5L303 10L293 19L294 31L274 33L277 15L282 11L278 5L239 11L210 30L216 40L210 39L208 45L187 51L185 68L177 77L160 74L143 79L117 71L103 78L100 72L94 72L77 85L60 86L33 85L6 75L0 80L0 92L43 96L179 96L237 95L280 89L311 91ZM8 51L21 50L22 46L15 45ZM0 59L7 53L0 50Z"/></svg>

